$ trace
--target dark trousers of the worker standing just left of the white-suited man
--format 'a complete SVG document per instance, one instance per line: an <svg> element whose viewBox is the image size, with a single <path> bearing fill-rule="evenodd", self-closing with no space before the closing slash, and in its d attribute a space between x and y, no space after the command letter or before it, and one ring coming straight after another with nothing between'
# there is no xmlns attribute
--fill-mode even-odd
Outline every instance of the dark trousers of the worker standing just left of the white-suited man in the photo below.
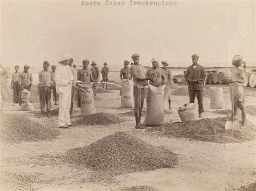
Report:
<svg viewBox="0 0 256 191"><path fill-rule="evenodd" d="M50 87L40 87L40 109L44 111L44 105L46 103L46 110L51 111L51 88Z"/></svg>

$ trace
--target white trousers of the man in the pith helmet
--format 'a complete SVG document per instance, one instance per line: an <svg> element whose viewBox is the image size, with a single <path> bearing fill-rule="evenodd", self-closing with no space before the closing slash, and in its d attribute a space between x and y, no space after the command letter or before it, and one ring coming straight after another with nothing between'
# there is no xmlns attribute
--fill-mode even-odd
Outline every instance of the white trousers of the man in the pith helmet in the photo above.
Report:
<svg viewBox="0 0 256 191"><path fill-rule="evenodd" d="M70 125L70 104L71 104L71 88L68 86L64 93L59 93L59 126Z"/></svg>

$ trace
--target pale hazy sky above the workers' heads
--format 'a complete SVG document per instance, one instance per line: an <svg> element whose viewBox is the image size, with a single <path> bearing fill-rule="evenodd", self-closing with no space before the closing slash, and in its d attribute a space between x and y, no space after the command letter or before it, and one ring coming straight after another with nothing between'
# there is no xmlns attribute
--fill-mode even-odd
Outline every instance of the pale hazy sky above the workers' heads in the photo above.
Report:
<svg viewBox="0 0 256 191"><path fill-rule="evenodd" d="M143 65L157 57L173 67L190 65L191 55L198 54L199 63L210 67L225 66L227 49L227 65L240 54L255 66L254 1L177 1L175 6L90 1L101 5L1 1L0 62L38 68L44 60L56 65L68 52L78 66L89 59L115 70L132 61L133 53L140 54Z"/></svg>

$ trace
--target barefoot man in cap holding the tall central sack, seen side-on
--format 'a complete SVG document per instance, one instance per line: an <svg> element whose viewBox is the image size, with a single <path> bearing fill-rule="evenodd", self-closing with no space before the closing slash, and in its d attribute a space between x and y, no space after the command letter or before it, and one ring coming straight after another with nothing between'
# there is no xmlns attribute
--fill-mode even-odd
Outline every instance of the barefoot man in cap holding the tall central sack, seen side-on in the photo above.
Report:
<svg viewBox="0 0 256 191"><path fill-rule="evenodd" d="M155 77L147 77L142 65L139 64L139 54L133 54L131 56L133 65L131 66L131 74L133 78L133 97L134 97L134 116L136 120L136 129L145 129L146 126L140 123L142 117L142 108L144 104L144 87L148 85L147 80L154 81Z"/></svg>

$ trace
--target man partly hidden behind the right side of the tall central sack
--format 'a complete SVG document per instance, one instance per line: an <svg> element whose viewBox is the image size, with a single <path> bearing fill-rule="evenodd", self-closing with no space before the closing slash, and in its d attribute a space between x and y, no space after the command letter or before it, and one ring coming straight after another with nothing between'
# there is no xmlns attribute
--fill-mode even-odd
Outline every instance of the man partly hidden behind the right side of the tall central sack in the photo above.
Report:
<svg viewBox="0 0 256 191"><path fill-rule="evenodd" d="M168 66L168 62L167 61L163 61L162 62L163 65L163 69L165 72L165 76L166 76L166 80L167 80L167 84L166 87L164 89L164 100L168 99L168 103L169 103L169 109L171 108L171 87L172 87L172 72L170 69L167 68Z"/></svg>

